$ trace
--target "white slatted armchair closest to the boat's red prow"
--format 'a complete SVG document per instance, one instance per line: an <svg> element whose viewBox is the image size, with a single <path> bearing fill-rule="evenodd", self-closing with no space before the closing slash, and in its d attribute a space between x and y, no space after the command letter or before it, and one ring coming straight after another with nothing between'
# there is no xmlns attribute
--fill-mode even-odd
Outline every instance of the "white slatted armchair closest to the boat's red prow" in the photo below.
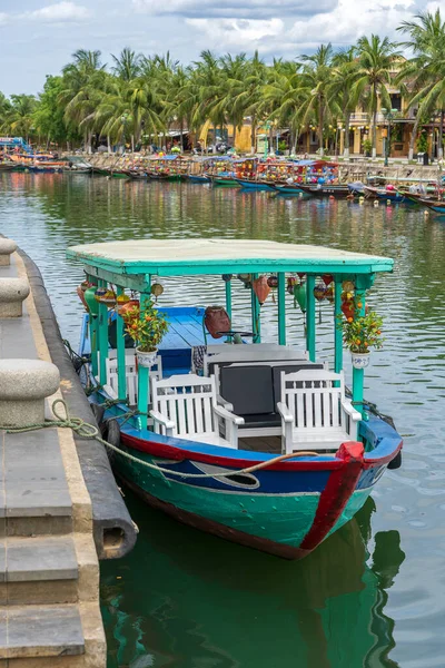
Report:
<svg viewBox="0 0 445 668"><path fill-rule="evenodd" d="M335 386L336 385L336 386ZM345 397L344 373L324 370L281 374L283 452L338 450L357 439L362 414Z"/></svg>

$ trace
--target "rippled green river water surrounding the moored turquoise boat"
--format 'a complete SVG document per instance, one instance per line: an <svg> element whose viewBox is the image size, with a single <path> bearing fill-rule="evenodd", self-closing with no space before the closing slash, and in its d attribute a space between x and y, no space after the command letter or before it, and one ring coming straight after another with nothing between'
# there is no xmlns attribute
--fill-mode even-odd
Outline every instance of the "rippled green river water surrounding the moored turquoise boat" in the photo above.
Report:
<svg viewBox="0 0 445 668"><path fill-rule="evenodd" d="M403 468L388 471L357 518L300 562L182 527L126 492L140 533L131 554L101 566L109 668L445 666L445 222L404 205L10 174L0 176L0 233L39 265L73 346L82 311L75 291L81 267L65 259L73 244L219 236L394 257L394 274L378 277L369 294L386 316L386 341L373 355L366 396L404 435ZM220 278L170 279L165 288L165 304L224 295ZM240 327L246 304L240 287ZM328 361L329 308L323 305L317 325ZM288 323L290 343L301 345L290 297ZM263 332L276 336L270 298Z"/></svg>

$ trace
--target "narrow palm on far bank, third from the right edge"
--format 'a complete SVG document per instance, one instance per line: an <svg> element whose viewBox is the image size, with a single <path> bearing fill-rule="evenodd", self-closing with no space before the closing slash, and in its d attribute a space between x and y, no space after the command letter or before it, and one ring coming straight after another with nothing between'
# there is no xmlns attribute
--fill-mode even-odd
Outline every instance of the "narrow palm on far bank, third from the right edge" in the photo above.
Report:
<svg viewBox="0 0 445 668"><path fill-rule="evenodd" d="M349 124L350 115L357 107L356 96L353 95L354 84L357 79L358 62L356 47L342 49L335 53L332 60L332 84L329 96L338 105L338 110L345 124L344 157L349 157Z"/></svg>

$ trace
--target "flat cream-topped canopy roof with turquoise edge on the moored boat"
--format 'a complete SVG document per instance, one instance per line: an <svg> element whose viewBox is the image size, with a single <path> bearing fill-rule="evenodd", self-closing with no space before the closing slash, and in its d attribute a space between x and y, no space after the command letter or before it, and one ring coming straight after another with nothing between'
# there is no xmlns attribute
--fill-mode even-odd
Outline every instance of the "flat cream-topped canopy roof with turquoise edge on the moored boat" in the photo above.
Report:
<svg viewBox="0 0 445 668"><path fill-rule="evenodd" d="M68 248L89 273L117 282L118 276L188 276L259 272L374 274L390 272L394 261L339 248L281 244L261 239L131 239ZM111 276L111 274L113 276ZM116 281L113 281L116 278ZM122 283L121 283L122 285Z"/></svg>

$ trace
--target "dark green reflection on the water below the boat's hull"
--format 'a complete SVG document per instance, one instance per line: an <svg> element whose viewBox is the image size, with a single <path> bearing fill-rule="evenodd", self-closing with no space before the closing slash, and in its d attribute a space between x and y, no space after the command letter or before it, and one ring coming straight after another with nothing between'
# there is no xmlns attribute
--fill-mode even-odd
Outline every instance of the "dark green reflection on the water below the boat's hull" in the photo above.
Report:
<svg viewBox="0 0 445 668"><path fill-rule="evenodd" d="M102 564L109 667L395 667L387 589L405 554L374 502L310 558L286 562L130 510L136 550ZM118 579L117 579L118 578ZM121 579L120 579L121 578Z"/></svg>

